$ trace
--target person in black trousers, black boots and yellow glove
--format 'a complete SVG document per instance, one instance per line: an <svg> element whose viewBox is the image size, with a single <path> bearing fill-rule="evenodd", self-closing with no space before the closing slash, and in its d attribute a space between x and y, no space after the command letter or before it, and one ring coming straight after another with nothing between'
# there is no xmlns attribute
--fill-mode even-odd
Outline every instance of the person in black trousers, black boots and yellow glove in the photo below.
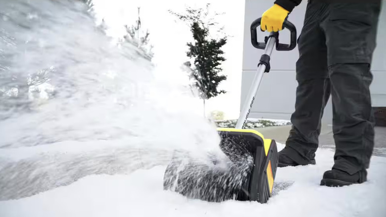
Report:
<svg viewBox="0 0 386 217"><path fill-rule="evenodd" d="M371 1L371 2L370 2ZM338 3L336 3L338 2ZM280 31L301 0L276 0L261 17L261 31ZM297 39L295 110L279 167L315 164L321 118L332 98L336 151L320 182L345 186L367 181L374 148L370 71L381 0L328 3L308 0Z"/></svg>

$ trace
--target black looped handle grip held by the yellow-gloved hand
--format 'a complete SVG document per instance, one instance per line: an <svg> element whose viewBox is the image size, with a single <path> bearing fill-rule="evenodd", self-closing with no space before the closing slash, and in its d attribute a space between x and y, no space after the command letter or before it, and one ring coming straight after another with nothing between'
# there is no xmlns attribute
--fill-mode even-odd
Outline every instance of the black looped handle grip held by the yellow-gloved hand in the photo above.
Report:
<svg viewBox="0 0 386 217"><path fill-rule="evenodd" d="M261 24L261 17L256 19L252 22L250 25L250 33L251 33L251 41L253 47L257 49L265 49L266 43L264 42L258 42L257 41L257 27L259 27ZM290 38L290 45L288 44L280 44L279 43L279 32L276 34L276 50L278 51L290 51L293 50L296 47L296 27L290 22L285 20L283 23L283 27L290 30L291 38Z"/></svg>

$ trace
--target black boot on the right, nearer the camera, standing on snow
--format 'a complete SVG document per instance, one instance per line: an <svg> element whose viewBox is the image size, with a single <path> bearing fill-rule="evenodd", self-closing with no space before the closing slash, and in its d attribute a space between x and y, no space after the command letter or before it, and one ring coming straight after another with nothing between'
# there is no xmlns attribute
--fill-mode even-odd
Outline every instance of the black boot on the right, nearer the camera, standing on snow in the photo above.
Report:
<svg viewBox="0 0 386 217"><path fill-rule="evenodd" d="M341 187L345 185L359 184L365 181L367 181L366 169L362 169L357 173L350 175L345 171L333 168L332 170L328 170L323 174L323 179L320 182L320 185L329 187Z"/></svg>

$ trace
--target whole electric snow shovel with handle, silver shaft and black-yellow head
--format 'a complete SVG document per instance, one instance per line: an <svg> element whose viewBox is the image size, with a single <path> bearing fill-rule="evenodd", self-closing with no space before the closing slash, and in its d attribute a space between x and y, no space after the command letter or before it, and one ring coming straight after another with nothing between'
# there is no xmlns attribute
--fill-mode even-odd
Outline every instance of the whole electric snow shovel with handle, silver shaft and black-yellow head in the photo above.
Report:
<svg viewBox="0 0 386 217"><path fill-rule="evenodd" d="M208 154L206 159L194 159L176 152L164 174L164 190L178 192L193 199L210 202L225 200L258 201L266 203L272 196L272 188L278 167L278 151L275 140L265 139L253 129L243 129L255 100L264 72L270 70L270 55L278 51L290 51L296 47L296 28L289 21L284 27L290 30L290 45L279 43L279 33L272 32L265 42L257 41L257 27L261 18L250 27L253 47L263 49L257 73L241 108L235 128L217 128L220 149L224 155ZM261 30L259 30L261 31Z"/></svg>

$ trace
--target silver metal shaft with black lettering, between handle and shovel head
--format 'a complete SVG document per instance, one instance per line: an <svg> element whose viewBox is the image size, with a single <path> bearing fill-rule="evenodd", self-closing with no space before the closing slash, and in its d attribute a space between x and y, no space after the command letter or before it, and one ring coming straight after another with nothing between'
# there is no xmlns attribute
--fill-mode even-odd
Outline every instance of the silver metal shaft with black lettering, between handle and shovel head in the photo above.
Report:
<svg viewBox="0 0 386 217"><path fill-rule="evenodd" d="M265 46L264 54L271 56L272 50L274 49L274 47L275 47L275 37L270 37L267 41L267 45ZM260 64L259 67L257 68L257 73L255 74L255 77L249 89L248 95L246 96L245 101L242 104L240 117L235 127L237 129L242 129L244 127L244 124L246 123L246 119L248 118L250 109L253 106L253 101L255 100L257 90L259 89L261 79L263 78L264 71L265 71L265 65Z"/></svg>

